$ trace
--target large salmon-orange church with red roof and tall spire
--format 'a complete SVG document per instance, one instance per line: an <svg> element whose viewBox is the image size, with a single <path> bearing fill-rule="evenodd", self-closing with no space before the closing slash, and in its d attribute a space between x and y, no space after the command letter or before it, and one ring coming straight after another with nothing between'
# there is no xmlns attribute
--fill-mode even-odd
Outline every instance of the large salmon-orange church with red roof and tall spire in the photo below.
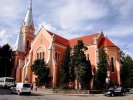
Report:
<svg viewBox="0 0 133 100"><path fill-rule="evenodd" d="M59 87L60 64L67 47L74 47L78 40L82 40L88 50L85 55L90 59L92 74L98 64L98 52L104 46L107 54L110 70L107 76L116 84L120 85L120 49L103 32L88 34L73 39L66 39L54 32L46 30L44 26L35 35L32 16L32 1L22 22L20 33L14 46L14 69L13 76L16 82L35 83L35 75L31 72L31 65L36 59L44 59L50 68L51 87ZM93 87L94 78L90 82ZM74 83L77 86L76 82Z"/></svg>

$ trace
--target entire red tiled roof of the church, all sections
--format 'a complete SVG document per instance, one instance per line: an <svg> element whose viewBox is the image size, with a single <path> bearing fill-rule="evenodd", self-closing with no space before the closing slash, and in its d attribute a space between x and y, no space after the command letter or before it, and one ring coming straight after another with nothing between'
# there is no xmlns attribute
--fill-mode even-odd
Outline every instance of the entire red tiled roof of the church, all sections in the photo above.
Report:
<svg viewBox="0 0 133 100"><path fill-rule="evenodd" d="M90 35L86 35L86 36L82 36L82 37L78 37L78 38L74 38L74 39L70 39L70 40L67 40L53 32L50 32L48 30L46 30L51 36L54 35L55 37L55 40L54 42L55 43L59 43L59 44L62 44L62 45L65 45L65 46L75 46L77 44L77 41L78 40L82 40L83 43L85 45L93 45L94 44L94 39L95 38L98 38L99 36L99 33L94 33L94 34L90 34ZM104 47L117 47L113 42L111 42L107 37L103 37L101 40L100 40L100 43L98 45L98 47L100 46L104 46Z"/></svg>

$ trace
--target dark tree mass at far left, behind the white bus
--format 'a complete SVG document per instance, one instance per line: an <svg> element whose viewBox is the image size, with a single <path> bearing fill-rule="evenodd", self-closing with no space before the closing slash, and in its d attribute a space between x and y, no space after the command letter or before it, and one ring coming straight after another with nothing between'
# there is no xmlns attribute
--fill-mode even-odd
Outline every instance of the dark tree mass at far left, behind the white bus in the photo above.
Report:
<svg viewBox="0 0 133 100"><path fill-rule="evenodd" d="M0 47L0 77L10 77L12 68L12 49L5 44Z"/></svg>

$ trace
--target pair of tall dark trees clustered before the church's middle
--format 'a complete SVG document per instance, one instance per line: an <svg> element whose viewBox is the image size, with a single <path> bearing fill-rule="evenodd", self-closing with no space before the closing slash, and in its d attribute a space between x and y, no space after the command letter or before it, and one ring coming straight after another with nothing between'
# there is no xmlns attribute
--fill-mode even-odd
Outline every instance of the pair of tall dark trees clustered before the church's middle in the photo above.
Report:
<svg viewBox="0 0 133 100"><path fill-rule="evenodd" d="M70 54L70 48L67 48L60 67L60 81L62 84L68 84L75 79L83 88L87 88L92 79L90 60L86 60L84 51L87 49L83 42L79 40L74 46L73 53Z"/></svg>

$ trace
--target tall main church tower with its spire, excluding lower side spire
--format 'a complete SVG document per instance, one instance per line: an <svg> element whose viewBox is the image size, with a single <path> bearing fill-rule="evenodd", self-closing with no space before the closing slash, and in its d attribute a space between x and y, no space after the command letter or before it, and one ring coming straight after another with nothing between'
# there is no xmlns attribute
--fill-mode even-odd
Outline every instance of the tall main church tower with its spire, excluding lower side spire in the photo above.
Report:
<svg viewBox="0 0 133 100"><path fill-rule="evenodd" d="M25 19L21 26L21 32L23 36L23 44L25 51L29 50L31 47L31 42L35 38L35 28L33 23L33 17L32 17L32 0L30 1L30 5L28 8L28 11L26 13Z"/></svg>

